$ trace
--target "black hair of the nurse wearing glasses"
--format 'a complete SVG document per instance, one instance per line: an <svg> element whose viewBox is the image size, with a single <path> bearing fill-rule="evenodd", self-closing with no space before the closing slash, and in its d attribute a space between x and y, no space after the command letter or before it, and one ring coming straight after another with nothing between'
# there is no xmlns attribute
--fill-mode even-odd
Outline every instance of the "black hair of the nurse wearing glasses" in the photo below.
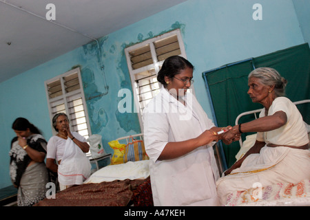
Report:
<svg viewBox="0 0 310 220"><path fill-rule="evenodd" d="M163 85L165 83L165 76L173 78L176 74L180 74L180 71L186 69L187 67L194 69L192 63L187 61L187 59L182 56L170 56L165 59L161 70L158 72L157 81Z"/></svg>

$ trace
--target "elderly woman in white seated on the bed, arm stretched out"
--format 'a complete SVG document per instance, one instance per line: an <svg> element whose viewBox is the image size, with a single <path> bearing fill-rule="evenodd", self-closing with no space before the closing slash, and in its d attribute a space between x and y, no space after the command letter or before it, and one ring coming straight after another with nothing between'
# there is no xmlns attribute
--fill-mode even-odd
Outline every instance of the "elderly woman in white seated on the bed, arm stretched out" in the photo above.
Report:
<svg viewBox="0 0 310 220"><path fill-rule="evenodd" d="M264 108L257 120L229 131L236 135L257 132L257 137L254 146L217 181L222 204L230 192L247 190L255 183L264 187L310 178L307 129L295 104L283 97L287 80L275 69L262 67L249 74L248 84L251 100Z"/></svg>

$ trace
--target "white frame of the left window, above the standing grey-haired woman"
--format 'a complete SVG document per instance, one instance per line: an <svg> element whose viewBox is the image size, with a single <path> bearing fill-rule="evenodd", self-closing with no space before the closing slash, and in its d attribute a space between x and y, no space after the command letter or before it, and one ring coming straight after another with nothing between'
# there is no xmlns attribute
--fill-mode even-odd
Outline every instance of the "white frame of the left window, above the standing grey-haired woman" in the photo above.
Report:
<svg viewBox="0 0 310 220"><path fill-rule="evenodd" d="M70 91L70 92L66 93L65 87L63 86L64 85L63 78L65 76L69 76L71 74L78 74L80 88L76 89L74 91ZM50 84L50 83L52 83L52 82L54 82L56 80L59 80L59 79L61 80L61 85L62 85L61 89L62 89L63 94L61 96L57 96L55 98L50 98L50 96L48 94L48 84ZM76 69L72 69L69 72L65 72L64 74L56 76L56 77L54 77L54 78L52 78L50 80L46 80L44 84L45 84L45 93L46 93L46 97L47 97L47 100L48 100L48 111L50 113L51 126L52 126L52 118L54 117L54 114L52 113L51 103L55 103L55 102L57 103L58 102L59 104L65 104L65 113L66 113L66 115L68 115L68 118L70 120L70 112L69 112L68 102L70 102L70 99L72 99L72 98L81 98L82 102L83 102L83 110L84 110L84 113L85 113L85 120L86 120L86 124L87 124L88 136L90 137L90 135L92 135L92 131L90 129L90 121L89 121L89 118L88 118L88 112L87 112L85 95L84 95L84 91L83 91L83 83L82 83L82 80L81 80L81 70L80 70L80 68L77 67ZM70 122L70 131L74 131L73 124L71 122ZM52 133L53 133L53 135L56 135L56 131L54 130L53 126L52 126Z"/></svg>

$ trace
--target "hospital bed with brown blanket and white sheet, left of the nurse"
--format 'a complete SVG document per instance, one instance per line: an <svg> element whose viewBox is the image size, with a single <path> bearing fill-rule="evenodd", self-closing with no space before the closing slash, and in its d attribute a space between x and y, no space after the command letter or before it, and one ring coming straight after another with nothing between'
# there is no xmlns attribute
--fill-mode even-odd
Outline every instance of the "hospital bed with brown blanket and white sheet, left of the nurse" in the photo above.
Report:
<svg viewBox="0 0 310 220"><path fill-rule="evenodd" d="M132 135L143 140L143 133ZM117 139L128 144L130 136ZM105 166L82 185L57 192L35 206L153 206L149 160Z"/></svg>

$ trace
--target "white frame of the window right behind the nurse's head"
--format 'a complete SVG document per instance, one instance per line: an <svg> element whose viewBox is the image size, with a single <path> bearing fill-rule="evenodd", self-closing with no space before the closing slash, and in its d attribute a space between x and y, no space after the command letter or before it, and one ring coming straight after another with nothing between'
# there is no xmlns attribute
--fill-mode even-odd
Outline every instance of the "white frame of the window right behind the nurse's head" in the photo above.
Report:
<svg viewBox="0 0 310 220"><path fill-rule="evenodd" d="M148 40L143 41L141 43L137 43L136 45L132 45L130 47L125 48L125 56L126 56L126 59L127 59L127 66L128 66L129 72L130 72L130 79L132 81L132 91L134 93L134 106L136 107L136 111L138 111L137 112L138 113L138 120L139 120L139 123L140 123L140 126L141 126L141 131L143 131L143 119L142 119L142 113L140 112L140 106L139 106L138 95L136 93L136 87L134 85L135 81L136 81L134 76L135 76L135 74L148 71L149 69L155 69L156 74L158 74L158 72L160 70L160 67L163 65L164 61L158 61L157 60L156 50L155 50L155 47L154 47L154 42L155 41L159 41L161 39L165 39L165 38L167 38L169 36L172 36L172 35L176 35L177 38L178 38L178 44L179 44L180 52L181 52L181 54L179 56L183 56L184 58L187 59L187 56L186 56L186 53L185 53L185 46L184 46L183 39L182 39L182 36L180 34L180 30L179 29L173 30L171 32L167 32L167 33L162 34L160 36L156 36L156 37L154 37L152 39L148 39ZM132 65L131 65L131 61L130 61L130 52L133 51L133 50L136 50L136 49L138 49L140 47L143 47L145 45L149 45L149 47L150 47L153 63L150 64L150 65L147 65L145 67L141 67L141 68L138 68L138 69L133 69Z"/></svg>

